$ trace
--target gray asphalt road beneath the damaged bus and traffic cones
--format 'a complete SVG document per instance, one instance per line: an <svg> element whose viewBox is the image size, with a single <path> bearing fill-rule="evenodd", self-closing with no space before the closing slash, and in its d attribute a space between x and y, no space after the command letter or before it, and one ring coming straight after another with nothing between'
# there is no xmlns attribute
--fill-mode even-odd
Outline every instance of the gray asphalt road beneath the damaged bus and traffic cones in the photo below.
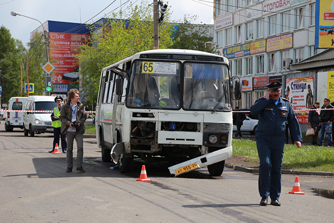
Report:
<svg viewBox="0 0 334 223"><path fill-rule="evenodd" d="M295 175L283 175L281 207L259 206L257 175L203 168L173 177L167 165L147 165L151 182L102 163L94 138L84 139L86 173L66 173L65 154L50 154L52 134L25 137L0 124L0 222L333 222L333 176L299 175L305 195L293 195Z"/></svg>

